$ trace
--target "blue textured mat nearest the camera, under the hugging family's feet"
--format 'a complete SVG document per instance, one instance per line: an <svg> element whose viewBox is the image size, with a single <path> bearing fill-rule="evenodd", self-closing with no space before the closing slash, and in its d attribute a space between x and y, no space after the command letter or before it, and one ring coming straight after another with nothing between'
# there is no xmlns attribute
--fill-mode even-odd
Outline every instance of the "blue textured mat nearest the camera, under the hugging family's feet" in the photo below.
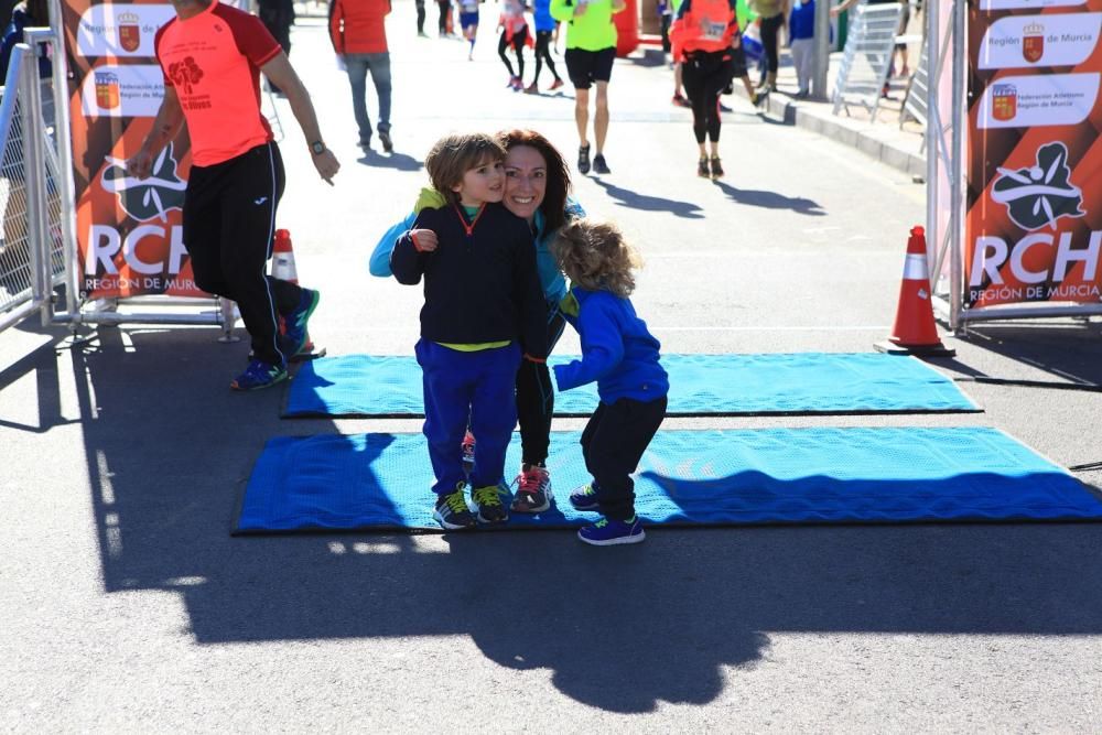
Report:
<svg viewBox="0 0 1102 735"><path fill-rule="evenodd" d="M500 528L577 526L577 432L552 434L555 502ZM515 437L506 466L520 461ZM281 436L249 479L235 533L433 530L420 434ZM1067 471L984 428L660 431L636 482L649 525L1102 519Z"/></svg>

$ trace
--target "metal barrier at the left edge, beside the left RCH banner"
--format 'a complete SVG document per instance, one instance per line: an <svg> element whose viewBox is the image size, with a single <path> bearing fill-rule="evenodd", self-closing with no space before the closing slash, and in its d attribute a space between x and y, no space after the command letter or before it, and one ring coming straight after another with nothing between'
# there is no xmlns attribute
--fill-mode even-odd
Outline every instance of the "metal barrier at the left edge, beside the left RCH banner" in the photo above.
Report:
<svg viewBox="0 0 1102 735"><path fill-rule="evenodd" d="M12 50L0 101L0 331L35 311L47 323L53 289L66 272L56 107L51 79L39 77L48 44L32 45Z"/></svg>

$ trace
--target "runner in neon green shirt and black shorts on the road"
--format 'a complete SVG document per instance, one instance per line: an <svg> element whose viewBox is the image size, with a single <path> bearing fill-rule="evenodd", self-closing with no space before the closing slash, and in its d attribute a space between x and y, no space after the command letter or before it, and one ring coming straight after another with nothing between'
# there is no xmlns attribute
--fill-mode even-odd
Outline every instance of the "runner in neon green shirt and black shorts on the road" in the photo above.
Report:
<svg viewBox="0 0 1102 735"><path fill-rule="evenodd" d="M597 109L593 115L596 153L593 172L612 173L605 162L605 137L608 134L608 78L616 58L616 26L613 14L626 7L625 0L551 0L551 17L565 21L566 73L574 85L574 122L580 147L577 170L590 172L590 87L596 84Z"/></svg>

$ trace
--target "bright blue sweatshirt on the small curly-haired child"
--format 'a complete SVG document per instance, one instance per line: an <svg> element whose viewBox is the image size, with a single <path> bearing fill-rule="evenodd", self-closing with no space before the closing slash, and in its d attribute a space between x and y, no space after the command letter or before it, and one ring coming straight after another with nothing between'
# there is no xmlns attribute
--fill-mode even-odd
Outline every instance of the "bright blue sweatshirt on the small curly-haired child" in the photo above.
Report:
<svg viewBox="0 0 1102 735"><path fill-rule="evenodd" d="M596 380L602 403L620 398L649 403L669 392L669 377L659 361L661 345L636 316L630 300L575 287L562 314L582 338L582 359L553 367L559 390Z"/></svg>

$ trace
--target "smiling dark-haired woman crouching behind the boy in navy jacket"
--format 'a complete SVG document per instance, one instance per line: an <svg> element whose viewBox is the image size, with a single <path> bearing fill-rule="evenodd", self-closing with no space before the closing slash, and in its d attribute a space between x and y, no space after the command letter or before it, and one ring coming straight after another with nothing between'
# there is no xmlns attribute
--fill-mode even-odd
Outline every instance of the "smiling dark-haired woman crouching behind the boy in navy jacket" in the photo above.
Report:
<svg viewBox="0 0 1102 735"><path fill-rule="evenodd" d="M566 295L566 281L551 255L550 245L560 227L585 213L566 196L570 190L566 162L547 138L534 130L507 130L499 132L497 139L508 151L505 198L501 203L532 229L536 263L548 303L548 349L553 349L564 325L559 302ZM442 203L440 194L425 190L418 201L417 210L424 206L441 206ZM398 237L412 227L417 212L413 212L382 236L371 253L371 275L390 275L390 251ZM523 360L517 372L521 466L514 480L517 493L511 509L515 512L542 512L551 507L551 476L545 463L553 411L554 385L548 366ZM473 437L468 436L464 444L472 441ZM464 446L464 453L468 451L469 446Z"/></svg>

